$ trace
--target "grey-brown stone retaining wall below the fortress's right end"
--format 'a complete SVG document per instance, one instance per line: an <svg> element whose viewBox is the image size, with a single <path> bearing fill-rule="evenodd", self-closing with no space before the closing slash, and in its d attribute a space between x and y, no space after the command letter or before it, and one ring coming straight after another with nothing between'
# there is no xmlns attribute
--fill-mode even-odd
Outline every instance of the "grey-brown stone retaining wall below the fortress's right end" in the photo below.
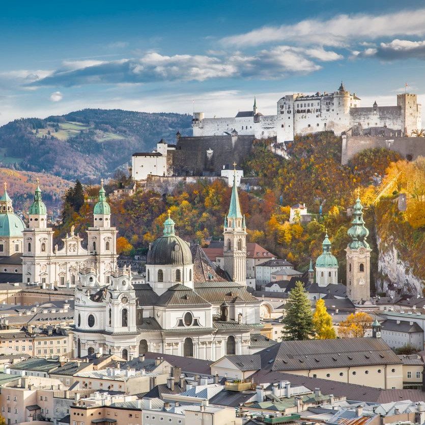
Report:
<svg viewBox="0 0 425 425"><path fill-rule="evenodd" d="M347 164L354 155L364 149L387 148L399 152L408 160L425 156L425 137L381 137L381 136L351 136L343 134L342 164Z"/></svg>

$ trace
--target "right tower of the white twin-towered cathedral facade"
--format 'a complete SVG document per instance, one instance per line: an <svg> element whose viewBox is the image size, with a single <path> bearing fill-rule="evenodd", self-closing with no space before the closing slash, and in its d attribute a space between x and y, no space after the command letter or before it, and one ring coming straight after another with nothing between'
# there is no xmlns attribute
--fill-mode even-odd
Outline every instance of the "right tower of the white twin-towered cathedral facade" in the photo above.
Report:
<svg viewBox="0 0 425 425"><path fill-rule="evenodd" d="M109 276L117 264L117 229L111 227L110 207L106 202L103 180L98 202L93 210L93 227L87 231L90 254L94 256L101 285L109 284Z"/></svg>

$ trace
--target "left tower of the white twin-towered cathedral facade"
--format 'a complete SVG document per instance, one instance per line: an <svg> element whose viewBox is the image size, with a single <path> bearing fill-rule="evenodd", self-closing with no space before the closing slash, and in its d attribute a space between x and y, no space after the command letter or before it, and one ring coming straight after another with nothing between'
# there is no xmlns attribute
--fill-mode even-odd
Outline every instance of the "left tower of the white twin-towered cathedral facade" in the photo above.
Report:
<svg viewBox="0 0 425 425"><path fill-rule="evenodd" d="M22 278L24 282L52 285L54 282L50 281L48 264L53 252L53 230L47 227L47 209L42 200L38 179L28 215L28 228L22 232Z"/></svg>

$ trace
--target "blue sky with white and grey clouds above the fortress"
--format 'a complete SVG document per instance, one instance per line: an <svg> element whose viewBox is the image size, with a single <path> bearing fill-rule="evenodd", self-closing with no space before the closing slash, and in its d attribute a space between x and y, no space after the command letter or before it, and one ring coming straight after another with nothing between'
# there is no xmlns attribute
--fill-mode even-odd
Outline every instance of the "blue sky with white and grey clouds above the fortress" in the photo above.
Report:
<svg viewBox="0 0 425 425"><path fill-rule="evenodd" d="M89 107L226 117L254 96L273 114L341 81L362 106L406 83L425 102L423 1L0 4L0 125Z"/></svg>

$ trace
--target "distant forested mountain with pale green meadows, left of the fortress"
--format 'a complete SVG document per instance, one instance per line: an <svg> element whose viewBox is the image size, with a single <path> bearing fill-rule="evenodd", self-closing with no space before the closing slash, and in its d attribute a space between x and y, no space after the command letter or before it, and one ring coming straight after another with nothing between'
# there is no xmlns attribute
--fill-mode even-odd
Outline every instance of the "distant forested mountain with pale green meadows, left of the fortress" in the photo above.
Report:
<svg viewBox="0 0 425 425"><path fill-rule="evenodd" d="M83 109L46 119L28 118L0 127L0 167L50 173L83 182L106 177L151 151L177 130L192 134L191 117L121 109Z"/></svg>

